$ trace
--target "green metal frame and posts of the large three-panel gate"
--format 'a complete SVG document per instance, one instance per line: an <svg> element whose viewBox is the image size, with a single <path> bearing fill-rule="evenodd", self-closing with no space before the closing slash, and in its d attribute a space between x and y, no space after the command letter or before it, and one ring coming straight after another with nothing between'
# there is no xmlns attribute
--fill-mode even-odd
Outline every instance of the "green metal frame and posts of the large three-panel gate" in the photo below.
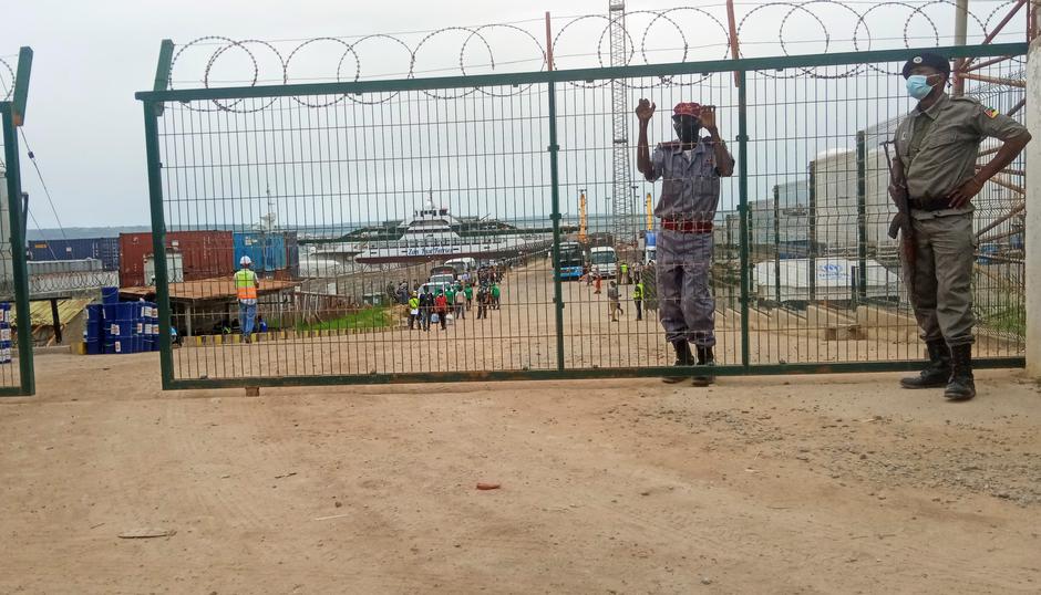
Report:
<svg viewBox="0 0 1041 595"><path fill-rule="evenodd" d="M752 364L750 354L750 285L749 270L749 170L748 170L748 97L745 77L750 71L775 71L782 69L807 69L816 66L856 65L869 62L906 61L921 52L936 52L957 58L991 58L1025 55L1027 43L1000 43L986 45L961 45L946 48L915 48L899 50L876 50L866 52L842 52L816 55L791 55L772 58L744 58L738 60L717 60L707 62L680 62L672 64L649 64L638 66L616 66L599 69L575 69L560 71L539 71L513 74L487 74L470 76L446 76L432 79L403 79L390 81L361 81L347 83L308 83L249 87L213 87L192 90L171 90L169 72L174 44L164 40L161 46L155 83L150 92L140 92L135 97L143 103L144 129L148 167L148 191L152 208L152 238L155 258L156 301L159 307L159 342L162 382L164 389L233 388L245 386L307 386L340 384L390 384L421 382L461 382L461 380L516 380L516 379L571 379L571 378L635 378L674 374L671 366L648 367L597 367L568 368L565 366L564 301L560 281L560 190L558 179L557 106L555 85L566 82L581 82L604 79L625 79L638 76L669 76L679 74L707 74L733 72L738 88L738 195L741 229L741 363L718 365L712 374L717 376L767 375L767 374L827 374L848 372L896 372L911 370L921 366L919 361L886 362L843 362L843 363L802 363L802 364ZM546 148L549 159L552 185L552 213L554 229L554 302L556 313L556 369L538 370L460 370L406 374L367 374L367 375L328 375L328 376L281 376L262 378L174 378L173 349L171 345L169 321L171 304L168 276L166 270L166 223L163 205L162 168L159 159L159 136L157 119L163 115L164 102L189 102L210 100L243 100L256 97L286 97L293 95L354 94L395 91L424 91L435 88L462 88L486 85L528 85L545 84L548 88L548 131L549 146ZM973 361L979 368L1024 367L1025 357L991 357Z"/></svg>

